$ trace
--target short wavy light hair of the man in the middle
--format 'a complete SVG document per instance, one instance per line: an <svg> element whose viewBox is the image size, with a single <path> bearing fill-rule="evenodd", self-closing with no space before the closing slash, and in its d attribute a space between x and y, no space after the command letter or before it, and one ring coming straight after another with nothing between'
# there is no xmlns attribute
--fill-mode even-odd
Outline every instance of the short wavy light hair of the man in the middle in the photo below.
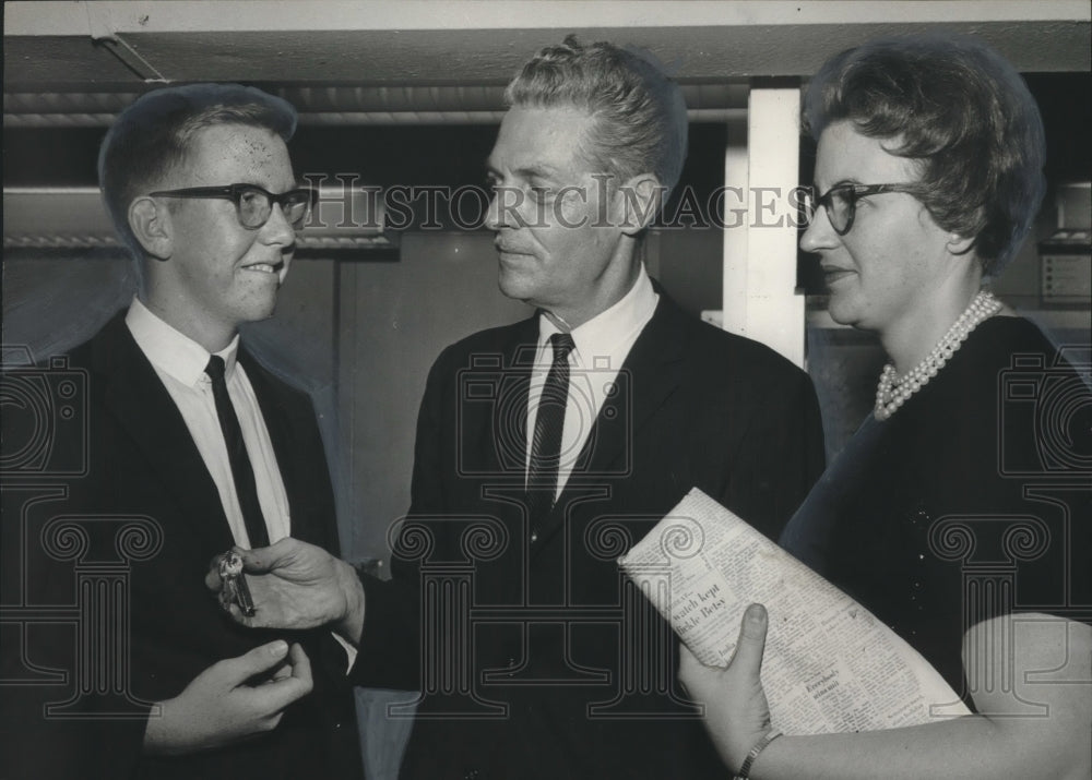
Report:
<svg viewBox="0 0 1092 780"><path fill-rule="evenodd" d="M687 116L682 91L646 51L613 44L582 45L570 35L547 46L505 92L509 106L574 107L595 119L590 165L625 181L652 172L668 190L686 159Z"/></svg>

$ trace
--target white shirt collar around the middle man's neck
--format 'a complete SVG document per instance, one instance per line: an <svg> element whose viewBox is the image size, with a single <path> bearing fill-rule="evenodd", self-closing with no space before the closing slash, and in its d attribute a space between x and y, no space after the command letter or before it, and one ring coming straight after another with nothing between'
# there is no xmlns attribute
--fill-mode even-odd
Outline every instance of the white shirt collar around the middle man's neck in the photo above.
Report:
<svg viewBox="0 0 1092 780"><path fill-rule="evenodd" d="M637 281L621 300L609 309L596 314L579 327L570 331L577 345L573 353L578 365L593 368L590 361L597 357L610 357L619 344L627 340L633 331L641 328L652 316L660 296L652 287L652 280L642 264ZM548 349L549 337L561 333L561 328L546 315L538 316L538 353ZM602 367L606 368L606 367ZM612 365L618 369L618 365Z"/></svg>

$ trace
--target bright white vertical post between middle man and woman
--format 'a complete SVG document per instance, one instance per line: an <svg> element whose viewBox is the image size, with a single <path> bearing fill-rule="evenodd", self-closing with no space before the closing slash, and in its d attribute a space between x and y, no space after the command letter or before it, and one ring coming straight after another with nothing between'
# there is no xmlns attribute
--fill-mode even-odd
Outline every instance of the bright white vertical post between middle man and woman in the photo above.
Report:
<svg viewBox="0 0 1092 780"><path fill-rule="evenodd" d="M725 184L738 188L741 178L747 220L725 231L724 327L803 367L804 296L796 293L797 228L788 197L799 183L798 117L798 89L752 89L745 176L729 142ZM725 221L733 224L731 213Z"/></svg>

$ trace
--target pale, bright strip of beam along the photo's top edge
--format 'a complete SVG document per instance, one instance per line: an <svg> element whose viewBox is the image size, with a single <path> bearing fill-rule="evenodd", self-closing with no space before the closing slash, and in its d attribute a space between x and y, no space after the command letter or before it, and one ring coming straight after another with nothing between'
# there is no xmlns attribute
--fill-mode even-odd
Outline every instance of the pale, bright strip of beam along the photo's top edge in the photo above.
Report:
<svg viewBox="0 0 1092 780"><path fill-rule="evenodd" d="M155 0L8 2L5 36L127 33L570 29L1084 21L1083 0Z"/></svg>

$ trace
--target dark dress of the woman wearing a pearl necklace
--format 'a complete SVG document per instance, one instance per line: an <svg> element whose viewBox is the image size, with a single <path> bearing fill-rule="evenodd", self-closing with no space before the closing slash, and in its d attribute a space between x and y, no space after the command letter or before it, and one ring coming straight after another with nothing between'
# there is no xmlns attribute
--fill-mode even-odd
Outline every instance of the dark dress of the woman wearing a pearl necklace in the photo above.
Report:
<svg viewBox="0 0 1092 780"><path fill-rule="evenodd" d="M1092 616L1092 394L1031 323L982 323L885 421L869 416L781 544L971 704L965 629Z"/></svg>

